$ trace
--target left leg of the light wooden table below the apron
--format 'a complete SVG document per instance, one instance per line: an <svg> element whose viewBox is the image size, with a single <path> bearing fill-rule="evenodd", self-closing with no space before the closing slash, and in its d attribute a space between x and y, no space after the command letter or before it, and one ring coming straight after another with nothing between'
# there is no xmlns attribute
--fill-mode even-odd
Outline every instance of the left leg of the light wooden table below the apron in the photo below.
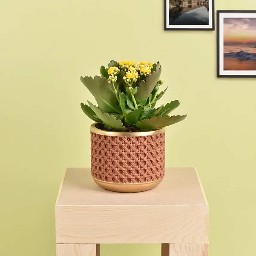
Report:
<svg viewBox="0 0 256 256"><path fill-rule="evenodd" d="M96 244L57 244L56 252L57 256L96 256Z"/></svg>

